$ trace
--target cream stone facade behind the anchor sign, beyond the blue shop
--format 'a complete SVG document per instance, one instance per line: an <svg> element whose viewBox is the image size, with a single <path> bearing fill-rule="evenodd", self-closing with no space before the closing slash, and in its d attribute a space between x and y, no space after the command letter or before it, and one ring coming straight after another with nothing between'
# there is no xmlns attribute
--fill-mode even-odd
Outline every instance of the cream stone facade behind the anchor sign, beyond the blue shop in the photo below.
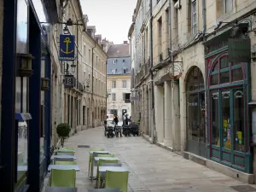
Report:
<svg viewBox="0 0 256 192"><path fill-rule="evenodd" d="M96 35L96 26L87 25L88 16L83 15L79 2L68 1L66 9L64 20L72 18L81 24L69 27L70 33L76 35L78 53L75 72L69 67L68 73L73 74L77 82L75 88L64 90L62 101L63 119L77 132L103 124L108 56L102 49L101 35Z"/></svg>

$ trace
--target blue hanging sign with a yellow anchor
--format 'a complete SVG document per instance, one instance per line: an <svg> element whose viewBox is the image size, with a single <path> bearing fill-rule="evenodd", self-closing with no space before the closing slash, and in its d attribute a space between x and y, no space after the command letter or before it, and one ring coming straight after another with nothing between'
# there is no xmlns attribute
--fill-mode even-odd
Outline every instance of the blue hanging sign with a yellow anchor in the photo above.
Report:
<svg viewBox="0 0 256 192"><path fill-rule="evenodd" d="M74 35L60 35L60 61L74 61L75 57Z"/></svg>

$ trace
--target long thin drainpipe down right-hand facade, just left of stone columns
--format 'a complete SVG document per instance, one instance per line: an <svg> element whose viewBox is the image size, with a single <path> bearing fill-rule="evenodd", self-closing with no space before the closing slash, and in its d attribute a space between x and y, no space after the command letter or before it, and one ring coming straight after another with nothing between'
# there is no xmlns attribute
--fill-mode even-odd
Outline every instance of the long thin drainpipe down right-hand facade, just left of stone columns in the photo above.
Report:
<svg viewBox="0 0 256 192"><path fill-rule="evenodd" d="M152 137L152 143L155 143L154 141L154 132L155 132L155 119L154 119L154 79L153 79L153 6L152 6L152 0L150 0L150 83L151 83L151 102L152 102L152 112L153 112L153 126L151 129L151 137Z"/></svg>

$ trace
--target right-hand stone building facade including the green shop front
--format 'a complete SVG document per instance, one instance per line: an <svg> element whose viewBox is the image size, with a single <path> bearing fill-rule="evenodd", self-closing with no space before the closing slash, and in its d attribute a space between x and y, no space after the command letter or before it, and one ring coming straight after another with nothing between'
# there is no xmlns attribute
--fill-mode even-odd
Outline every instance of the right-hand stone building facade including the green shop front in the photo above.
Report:
<svg viewBox="0 0 256 192"><path fill-rule="evenodd" d="M138 1L133 15L131 55L141 55L135 34L143 31L137 23L143 22L138 13L145 2ZM255 1L151 3L154 142L253 183ZM240 48L234 48L236 42ZM142 92L143 112L140 84L133 88Z"/></svg>

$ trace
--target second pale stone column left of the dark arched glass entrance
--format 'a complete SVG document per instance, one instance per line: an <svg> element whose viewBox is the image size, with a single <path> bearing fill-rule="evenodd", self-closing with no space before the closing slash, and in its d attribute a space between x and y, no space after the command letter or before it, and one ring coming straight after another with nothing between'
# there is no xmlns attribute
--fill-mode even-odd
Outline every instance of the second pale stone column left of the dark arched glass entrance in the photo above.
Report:
<svg viewBox="0 0 256 192"><path fill-rule="evenodd" d="M172 147L172 84L165 82L165 139L164 145Z"/></svg>

